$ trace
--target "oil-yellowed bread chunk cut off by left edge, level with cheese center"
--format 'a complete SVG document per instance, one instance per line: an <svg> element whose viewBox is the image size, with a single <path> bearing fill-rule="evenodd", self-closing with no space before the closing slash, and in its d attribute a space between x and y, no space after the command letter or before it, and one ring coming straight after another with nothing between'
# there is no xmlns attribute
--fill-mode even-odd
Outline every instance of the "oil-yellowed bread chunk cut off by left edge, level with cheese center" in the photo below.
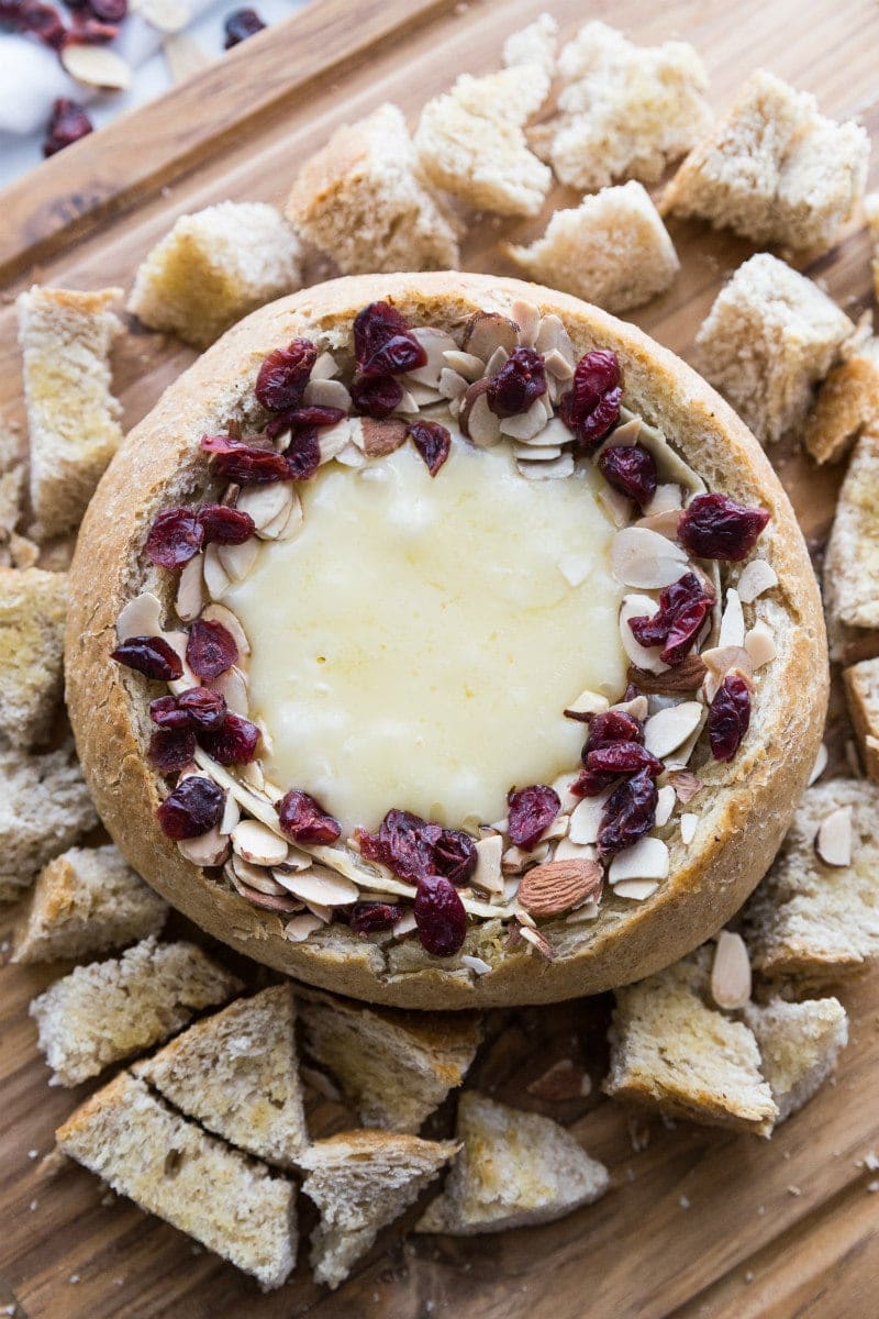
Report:
<svg viewBox="0 0 879 1319"><path fill-rule="evenodd" d="M0 568L0 732L46 741L62 694L67 574Z"/></svg>

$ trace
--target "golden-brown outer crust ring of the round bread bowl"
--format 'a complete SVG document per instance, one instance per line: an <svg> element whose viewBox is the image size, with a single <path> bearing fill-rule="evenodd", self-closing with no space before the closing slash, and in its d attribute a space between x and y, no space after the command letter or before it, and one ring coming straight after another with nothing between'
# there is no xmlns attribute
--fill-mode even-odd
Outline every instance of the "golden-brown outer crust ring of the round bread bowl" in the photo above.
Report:
<svg viewBox="0 0 879 1319"><path fill-rule="evenodd" d="M265 355L294 335L347 334L356 313L391 297L415 323L453 327L472 311L509 311L518 298L556 313L579 353L600 344L621 359L626 401L675 442L709 487L768 508L759 553L780 586L764 605L778 658L755 695L751 732L729 764L701 770L695 803L710 827L689 848L671 845L671 878L646 902L609 896L597 921L548 926L557 956L523 946L470 976L428 954L393 975L382 948L345 927L285 940L278 917L213 882L156 823L158 780L146 764L144 679L109 660L116 619L144 588L169 583L144 562L156 514L204 489L199 450L248 398ZM167 576L167 574L165 575ZM824 728L828 662L817 584L793 510L750 431L701 377L633 326L561 293L478 274L382 274L335 280L253 313L204 353L132 431L83 522L71 568L67 699L98 810L132 865L159 893L232 947L302 980L407 1008L552 1002L643 979L716 933L768 868L805 786ZM389 806L393 803L389 802Z"/></svg>

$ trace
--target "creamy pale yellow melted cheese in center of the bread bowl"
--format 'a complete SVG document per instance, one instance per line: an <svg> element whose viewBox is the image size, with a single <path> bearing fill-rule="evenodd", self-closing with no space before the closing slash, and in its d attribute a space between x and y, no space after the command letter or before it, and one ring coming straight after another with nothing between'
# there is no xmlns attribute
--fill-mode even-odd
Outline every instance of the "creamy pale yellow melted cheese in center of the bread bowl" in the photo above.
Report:
<svg viewBox="0 0 879 1319"><path fill-rule="evenodd" d="M460 826L576 765L564 707L618 699L626 673L602 484L590 466L526 481L507 445L456 437L434 479L406 443L300 485L298 537L262 545L224 596L253 649L268 777L347 830L390 807Z"/></svg>

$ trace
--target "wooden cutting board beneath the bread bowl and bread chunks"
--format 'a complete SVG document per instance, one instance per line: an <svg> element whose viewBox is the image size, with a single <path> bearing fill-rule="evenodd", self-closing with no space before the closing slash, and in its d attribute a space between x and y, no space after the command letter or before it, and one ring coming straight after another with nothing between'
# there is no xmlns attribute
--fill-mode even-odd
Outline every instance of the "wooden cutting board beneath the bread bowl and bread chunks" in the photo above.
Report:
<svg viewBox="0 0 879 1319"><path fill-rule="evenodd" d="M564 36L602 17L642 44L692 41L723 107L759 65L816 92L832 115L879 135L875 0L319 0L240 46L192 82L41 165L0 197L0 412L21 415L14 294L33 280L128 286L137 262L184 211L225 198L282 202L302 160L332 128L385 99L414 116L460 70L499 59L503 37L542 8ZM879 166L874 166L876 186ZM555 206L575 198L561 190ZM501 237L543 222L484 220L464 266L503 270ZM672 224L683 273L635 319L687 355L747 244ZM311 274L318 277L315 264ZM851 315L871 305L868 247L851 226L809 273ZM116 363L136 422L192 353L133 327ZM838 475L789 448L775 455L820 553ZM796 692L791 692L796 699ZM838 703L837 703L838 704ZM830 740L846 732L837 714ZM236 963L240 966L240 963ZM879 1312L876 1210L862 1166L879 1149L879 973L841 992L853 1039L834 1086L771 1144L662 1121L631 1122L598 1095L609 1002L494 1013L474 1080L497 1097L571 1125L604 1159L613 1188L560 1223L453 1241L387 1229L335 1294L304 1268L282 1291L254 1283L182 1235L107 1196L82 1169L43 1162L53 1130L82 1097L49 1089L28 1002L59 968L0 971L0 1307L30 1319L867 1319ZM593 1093L547 1104L527 1091L559 1058L585 1064ZM449 1113L440 1115L448 1121ZM316 1130L337 1124L331 1105ZM306 1227L308 1219L306 1215ZM304 1254L304 1252L303 1252Z"/></svg>

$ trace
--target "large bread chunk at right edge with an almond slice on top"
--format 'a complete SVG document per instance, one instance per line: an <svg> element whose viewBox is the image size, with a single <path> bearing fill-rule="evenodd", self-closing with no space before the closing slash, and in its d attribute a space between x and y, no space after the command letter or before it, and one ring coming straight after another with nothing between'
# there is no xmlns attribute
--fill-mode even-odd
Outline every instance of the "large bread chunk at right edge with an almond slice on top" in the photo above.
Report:
<svg viewBox="0 0 879 1319"><path fill-rule="evenodd" d="M822 859L818 831L849 831L847 852ZM836 778L809 787L781 851L743 911L756 971L832 984L879 954L879 786Z"/></svg>

